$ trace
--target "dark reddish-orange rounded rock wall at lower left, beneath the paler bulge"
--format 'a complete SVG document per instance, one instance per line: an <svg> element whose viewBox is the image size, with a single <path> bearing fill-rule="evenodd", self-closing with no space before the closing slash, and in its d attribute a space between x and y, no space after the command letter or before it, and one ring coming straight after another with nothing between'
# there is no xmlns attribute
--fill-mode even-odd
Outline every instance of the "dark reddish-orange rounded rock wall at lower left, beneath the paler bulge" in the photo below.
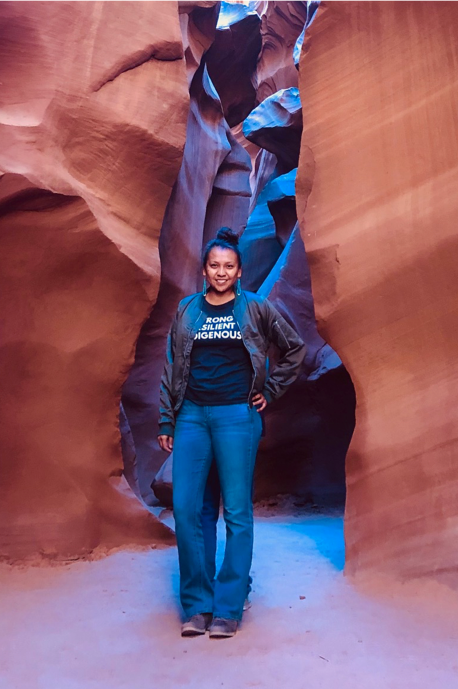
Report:
<svg viewBox="0 0 458 689"><path fill-rule="evenodd" d="M119 390L149 303L139 269L81 198L11 177L0 182L0 558L172 542L121 478Z"/></svg>

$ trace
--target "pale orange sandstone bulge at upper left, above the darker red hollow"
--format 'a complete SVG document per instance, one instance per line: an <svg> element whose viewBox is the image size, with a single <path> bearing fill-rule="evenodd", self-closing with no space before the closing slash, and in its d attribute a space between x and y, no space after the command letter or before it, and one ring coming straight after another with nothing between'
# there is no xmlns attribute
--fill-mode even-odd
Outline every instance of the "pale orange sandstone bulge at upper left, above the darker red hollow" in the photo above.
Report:
<svg viewBox="0 0 458 689"><path fill-rule="evenodd" d="M82 196L107 236L152 274L189 97L174 3L129 9L109 0L82 21L81 3L65 11L57 0L33 11L25 0L3 3L0 169ZM40 97L32 90L29 99L20 75L32 63Z"/></svg>

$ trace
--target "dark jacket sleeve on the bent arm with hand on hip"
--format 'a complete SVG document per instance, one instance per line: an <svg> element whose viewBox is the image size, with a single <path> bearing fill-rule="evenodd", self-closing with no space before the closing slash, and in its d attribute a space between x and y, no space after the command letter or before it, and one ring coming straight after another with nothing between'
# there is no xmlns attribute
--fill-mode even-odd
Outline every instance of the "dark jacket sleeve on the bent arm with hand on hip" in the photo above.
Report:
<svg viewBox="0 0 458 689"><path fill-rule="evenodd" d="M263 302L266 332L280 350L280 358L264 385L263 395L268 402L278 399L298 377L306 347L297 332L266 299Z"/></svg>

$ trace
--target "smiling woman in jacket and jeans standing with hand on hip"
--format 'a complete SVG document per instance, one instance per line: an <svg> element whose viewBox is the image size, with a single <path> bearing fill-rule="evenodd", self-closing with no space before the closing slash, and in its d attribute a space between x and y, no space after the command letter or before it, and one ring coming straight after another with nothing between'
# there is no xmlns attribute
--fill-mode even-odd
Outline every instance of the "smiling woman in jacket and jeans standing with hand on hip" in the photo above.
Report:
<svg viewBox="0 0 458 689"><path fill-rule="evenodd" d="M242 617L253 549L252 483L259 412L296 379L305 356L297 333L262 297L242 291L238 237L221 228L203 256L204 287L173 321L161 382L159 444L173 449L173 510L183 636L233 636ZM280 358L267 375L273 343ZM216 580L206 567L202 505L215 460L226 523ZM207 554L208 565L208 554Z"/></svg>

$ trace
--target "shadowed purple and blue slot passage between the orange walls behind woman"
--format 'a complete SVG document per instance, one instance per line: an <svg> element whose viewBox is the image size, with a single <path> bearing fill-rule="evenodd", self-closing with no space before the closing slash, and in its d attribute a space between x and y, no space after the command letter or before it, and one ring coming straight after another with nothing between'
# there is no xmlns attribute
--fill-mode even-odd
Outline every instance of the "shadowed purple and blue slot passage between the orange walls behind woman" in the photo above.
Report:
<svg viewBox="0 0 458 689"><path fill-rule="evenodd" d="M204 246L227 225L240 236L242 288L268 298L307 348L298 379L263 413L254 499L273 505L292 495L291 504L344 508L355 393L317 331L296 208L298 55L318 4L298 0L285 12L275 3L223 2L211 47L192 72L183 162L161 228L159 295L122 396L126 476L152 507L172 503L173 454L164 462L155 426L167 331L179 299L202 288ZM272 347L271 370L278 355Z"/></svg>

